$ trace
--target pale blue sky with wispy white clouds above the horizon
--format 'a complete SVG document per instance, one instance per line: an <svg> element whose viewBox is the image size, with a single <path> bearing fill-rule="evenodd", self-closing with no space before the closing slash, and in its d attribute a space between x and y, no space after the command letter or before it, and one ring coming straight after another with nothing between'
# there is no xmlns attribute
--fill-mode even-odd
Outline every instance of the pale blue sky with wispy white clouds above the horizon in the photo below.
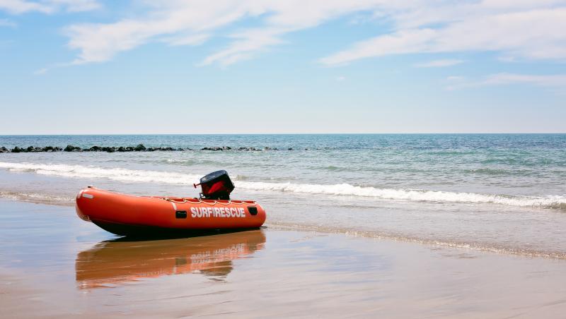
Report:
<svg viewBox="0 0 566 319"><path fill-rule="evenodd" d="M0 134L566 133L566 0L0 0Z"/></svg>

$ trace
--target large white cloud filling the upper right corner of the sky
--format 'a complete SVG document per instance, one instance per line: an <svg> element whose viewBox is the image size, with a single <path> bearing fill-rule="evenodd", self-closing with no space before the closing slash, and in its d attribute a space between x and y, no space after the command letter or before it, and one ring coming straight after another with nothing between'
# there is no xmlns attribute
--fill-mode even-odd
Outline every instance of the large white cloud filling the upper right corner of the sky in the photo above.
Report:
<svg viewBox="0 0 566 319"><path fill-rule="evenodd" d="M441 7L434 13L425 8L393 14L398 30L353 44L320 62L346 64L391 54L486 51L524 59L566 59L566 1L514 4L483 1L473 6ZM427 27L432 24L441 26Z"/></svg>

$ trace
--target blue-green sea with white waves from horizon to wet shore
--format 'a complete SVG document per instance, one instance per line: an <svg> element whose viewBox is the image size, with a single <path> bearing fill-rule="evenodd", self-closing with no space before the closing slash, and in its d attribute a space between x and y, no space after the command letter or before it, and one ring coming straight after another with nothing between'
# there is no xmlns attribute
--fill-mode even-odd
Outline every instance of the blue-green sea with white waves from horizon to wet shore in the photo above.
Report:
<svg viewBox="0 0 566 319"><path fill-rule="evenodd" d="M266 227L566 259L566 134L0 136L6 148L138 144L192 150L0 153L0 197L197 197L193 183L225 169Z"/></svg>

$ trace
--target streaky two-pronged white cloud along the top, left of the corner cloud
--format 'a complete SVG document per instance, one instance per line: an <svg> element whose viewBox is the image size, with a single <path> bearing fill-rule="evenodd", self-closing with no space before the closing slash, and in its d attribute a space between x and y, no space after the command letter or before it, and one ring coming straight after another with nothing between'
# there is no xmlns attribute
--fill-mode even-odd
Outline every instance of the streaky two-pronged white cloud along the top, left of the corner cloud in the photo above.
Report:
<svg viewBox="0 0 566 319"><path fill-rule="evenodd" d="M0 0L1 1L1 0ZM232 64L249 59L268 47L284 43L282 36L312 28L326 20L376 8L384 0L219 0L219 1L149 1L146 16L105 24L79 24L67 28L69 47L79 50L77 63L112 59L118 52L138 47L152 40L180 45L179 35L192 39L208 34L243 18L260 19L260 27L240 30L219 52L207 56L202 65ZM300 8L300 9L299 9ZM188 44L194 44L189 41Z"/></svg>

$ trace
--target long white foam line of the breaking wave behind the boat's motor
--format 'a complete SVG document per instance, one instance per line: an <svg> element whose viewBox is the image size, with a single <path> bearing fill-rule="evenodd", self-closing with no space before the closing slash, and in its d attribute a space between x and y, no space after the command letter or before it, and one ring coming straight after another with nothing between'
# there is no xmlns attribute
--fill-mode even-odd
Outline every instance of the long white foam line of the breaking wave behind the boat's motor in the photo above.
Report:
<svg viewBox="0 0 566 319"><path fill-rule="evenodd" d="M68 164L34 164L0 162L0 168L9 171L33 171L36 174L74 178L103 178L120 182L168 183L190 185L198 181L201 174L183 174L168 171L145 171L122 168L86 167ZM437 203L487 203L518 207L545 207L566 210L566 196L548 195L511 196L449 191L426 191L418 189L393 189L353 186L348 183L335 185L270 183L236 181L236 187L250 191L279 191L289 193L310 193L319 195L348 195L384 200L409 200Z"/></svg>

